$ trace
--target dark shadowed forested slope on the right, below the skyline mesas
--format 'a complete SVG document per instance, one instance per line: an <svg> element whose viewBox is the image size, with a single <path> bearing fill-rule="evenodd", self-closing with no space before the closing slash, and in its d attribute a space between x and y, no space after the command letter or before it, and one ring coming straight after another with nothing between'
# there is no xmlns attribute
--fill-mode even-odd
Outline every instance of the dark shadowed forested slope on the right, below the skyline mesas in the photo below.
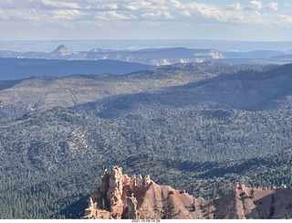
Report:
<svg viewBox="0 0 292 223"><path fill-rule="evenodd" d="M208 68L206 68L208 69ZM224 73L224 69L227 71ZM102 101L76 106L103 118L153 117L172 109L235 109L264 111L276 108L292 94L291 65L245 70L228 67L210 71L216 76L163 90L117 95ZM209 71L209 70L208 70ZM288 100L289 101L289 100Z"/></svg>

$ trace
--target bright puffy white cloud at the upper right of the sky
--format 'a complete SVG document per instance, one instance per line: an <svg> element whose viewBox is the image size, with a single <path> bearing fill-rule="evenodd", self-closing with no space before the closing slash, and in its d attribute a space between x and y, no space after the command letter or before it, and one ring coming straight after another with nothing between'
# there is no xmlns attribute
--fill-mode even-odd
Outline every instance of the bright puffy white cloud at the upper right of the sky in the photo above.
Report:
<svg viewBox="0 0 292 223"><path fill-rule="evenodd" d="M287 26L291 22L290 16L275 14L273 11L278 9L278 5L275 2L263 5L261 1L250 1L247 5L242 5L236 2L233 5L227 5L225 7L219 7L216 5L207 4L179 4L176 0L172 0L173 11L181 11L184 15L186 22L191 22L190 18L193 18L193 22L208 19L206 23L239 23L250 25L280 25ZM172 15L175 15L172 12ZM178 14L176 14L178 15ZM187 18L189 17L189 19Z"/></svg>

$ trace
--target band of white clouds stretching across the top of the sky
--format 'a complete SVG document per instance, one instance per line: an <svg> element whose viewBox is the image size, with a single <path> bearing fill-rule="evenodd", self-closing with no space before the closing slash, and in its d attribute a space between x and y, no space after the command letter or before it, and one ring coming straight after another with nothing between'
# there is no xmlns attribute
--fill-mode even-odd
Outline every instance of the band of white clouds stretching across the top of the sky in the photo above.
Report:
<svg viewBox="0 0 292 223"><path fill-rule="evenodd" d="M291 4L285 4L292 7ZM55 21L182 22L183 24L239 23L291 25L289 15L279 13L276 2L263 4L239 0L216 6L181 0L10 0L0 1L0 19Z"/></svg>

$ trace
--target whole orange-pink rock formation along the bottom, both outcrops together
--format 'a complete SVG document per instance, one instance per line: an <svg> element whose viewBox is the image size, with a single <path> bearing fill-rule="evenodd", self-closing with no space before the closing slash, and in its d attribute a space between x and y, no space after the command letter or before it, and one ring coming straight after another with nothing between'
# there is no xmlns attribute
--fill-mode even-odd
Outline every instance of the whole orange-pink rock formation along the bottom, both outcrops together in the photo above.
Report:
<svg viewBox="0 0 292 223"><path fill-rule="evenodd" d="M100 186L90 195L84 218L94 219L251 219L291 218L292 189L255 189L243 183L222 197L204 200L184 190L155 184L149 175L128 176L122 168L105 170Z"/></svg>

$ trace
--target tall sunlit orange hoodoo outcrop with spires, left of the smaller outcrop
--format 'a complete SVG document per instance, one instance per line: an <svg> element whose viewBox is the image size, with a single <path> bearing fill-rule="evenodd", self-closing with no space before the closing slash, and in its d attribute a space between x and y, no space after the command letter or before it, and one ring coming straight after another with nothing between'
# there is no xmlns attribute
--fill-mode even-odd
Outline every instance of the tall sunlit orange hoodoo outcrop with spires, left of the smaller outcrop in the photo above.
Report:
<svg viewBox="0 0 292 223"><path fill-rule="evenodd" d="M203 210L203 211L202 211ZM84 218L210 218L213 207L203 198L193 198L184 190L159 186L150 175L122 174L122 168L105 170L99 187L89 197Z"/></svg>

